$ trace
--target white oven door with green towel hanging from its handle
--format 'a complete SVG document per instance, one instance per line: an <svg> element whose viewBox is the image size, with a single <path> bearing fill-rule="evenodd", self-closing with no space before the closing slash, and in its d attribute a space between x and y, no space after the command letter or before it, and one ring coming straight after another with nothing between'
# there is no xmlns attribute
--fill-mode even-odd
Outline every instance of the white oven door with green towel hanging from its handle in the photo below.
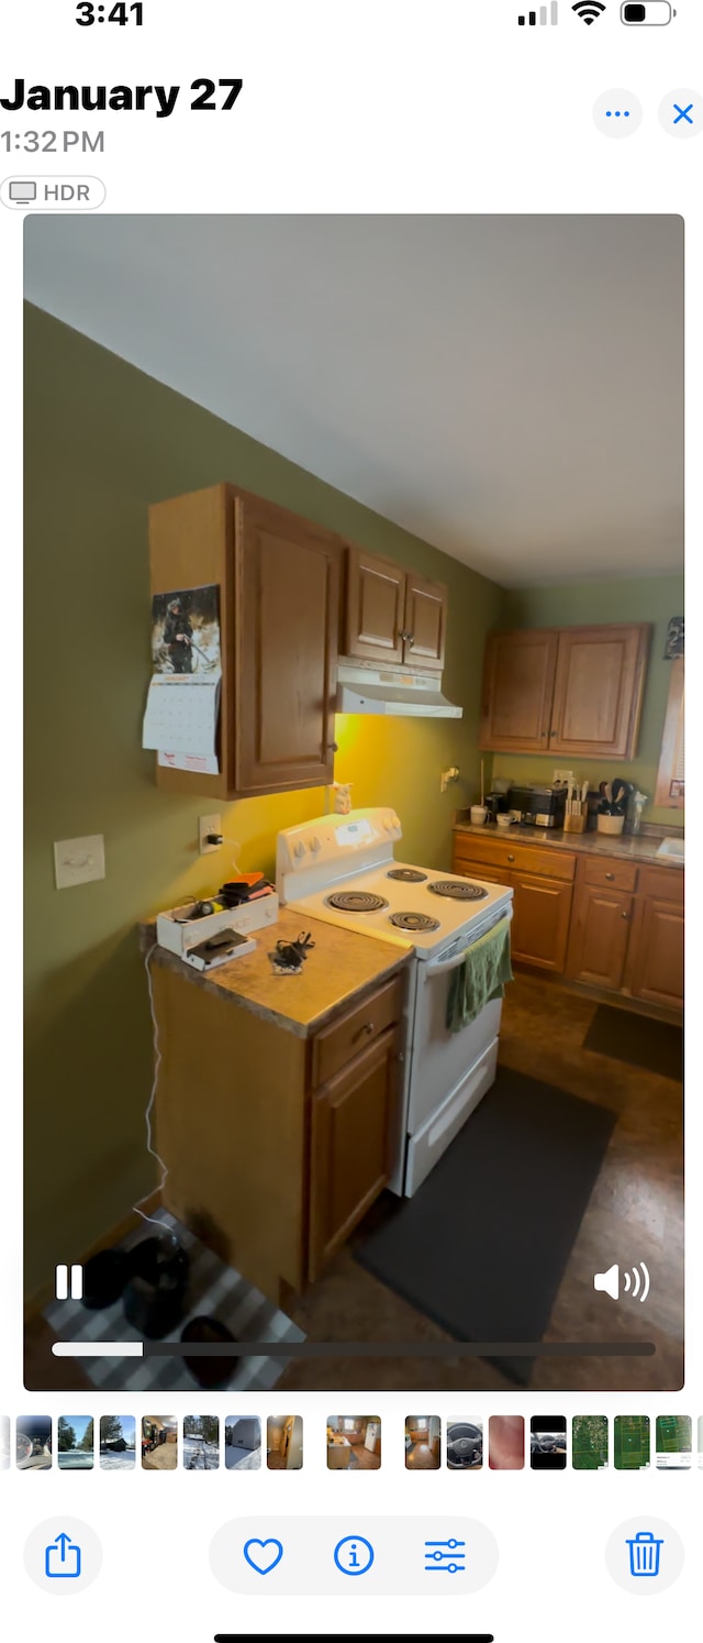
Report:
<svg viewBox="0 0 703 1643"><path fill-rule="evenodd" d="M512 907L501 910L512 918ZM494 920L498 923L499 918ZM480 933L476 932L476 938ZM466 946L448 960L427 960L417 966L416 1020L412 1030L411 1089L407 1130L414 1135L447 1098L465 1083L466 1075L498 1038L503 1001L486 1004L476 1020L460 1032L447 1027L447 991L450 971L463 963Z"/></svg>

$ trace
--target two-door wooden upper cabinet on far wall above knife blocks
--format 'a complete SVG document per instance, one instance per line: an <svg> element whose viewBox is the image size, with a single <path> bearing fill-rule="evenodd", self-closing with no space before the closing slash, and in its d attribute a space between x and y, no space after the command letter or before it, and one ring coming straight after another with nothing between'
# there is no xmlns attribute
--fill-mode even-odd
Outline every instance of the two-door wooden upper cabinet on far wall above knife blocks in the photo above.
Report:
<svg viewBox="0 0 703 1643"><path fill-rule="evenodd" d="M631 759L647 623L524 628L486 644L480 746L494 752Z"/></svg>

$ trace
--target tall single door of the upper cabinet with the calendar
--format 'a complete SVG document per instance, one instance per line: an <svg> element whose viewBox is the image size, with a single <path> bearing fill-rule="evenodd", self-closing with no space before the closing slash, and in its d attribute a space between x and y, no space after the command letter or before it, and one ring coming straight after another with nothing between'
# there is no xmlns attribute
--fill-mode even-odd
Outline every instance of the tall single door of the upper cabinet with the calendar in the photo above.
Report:
<svg viewBox="0 0 703 1643"><path fill-rule="evenodd" d="M235 498L235 787L333 777L342 544L284 508Z"/></svg>

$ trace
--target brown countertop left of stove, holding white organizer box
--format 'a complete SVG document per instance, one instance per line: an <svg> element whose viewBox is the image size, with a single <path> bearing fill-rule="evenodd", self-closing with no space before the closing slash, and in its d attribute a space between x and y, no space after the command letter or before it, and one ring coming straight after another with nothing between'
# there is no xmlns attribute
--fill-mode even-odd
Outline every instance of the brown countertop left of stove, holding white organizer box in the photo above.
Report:
<svg viewBox="0 0 703 1643"><path fill-rule="evenodd" d="M274 976L268 955L274 951L276 941L294 941L302 930L310 932L315 946L301 974ZM279 909L276 923L255 930L253 935L258 943L255 953L233 958L230 964L220 964L205 974L184 964L176 953L156 946L156 920L140 925L143 951L154 951L151 963L174 969L195 987L230 999L299 1038L319 1032L356 994L401 969L412 953L412 943L379 941L376 937L340 930L322 918L291 914L286 907Z"/></svg>

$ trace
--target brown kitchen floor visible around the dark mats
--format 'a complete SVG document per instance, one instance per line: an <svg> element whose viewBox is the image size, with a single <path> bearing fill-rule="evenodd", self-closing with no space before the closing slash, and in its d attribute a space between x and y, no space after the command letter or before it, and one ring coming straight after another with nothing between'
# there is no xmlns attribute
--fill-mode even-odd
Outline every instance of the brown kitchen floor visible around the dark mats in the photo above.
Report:
<svg viewBox="0 0 703 1643"><path fill-rule="evenodd" d="M683 1099L682 1086L626 1061L583 1048L596 1006L532 976L508 989L499 1060L618 1112L618 1124L558 1290L547 1341L631 1341L642 1334L654 1357L537 1359L531 1390L673 1392L683 1383ZM652 1290L646 1308L596 1293L593 1273L614 1260L644 1260ZM292 1308L310 1339L448 1339L353 1259L348 1244L325 1277ZM646 1321L646 1329L644 1329ZM291 1362L279 1390L511 1392L498 1369L478 1359L345 1357Z"/></svg>

